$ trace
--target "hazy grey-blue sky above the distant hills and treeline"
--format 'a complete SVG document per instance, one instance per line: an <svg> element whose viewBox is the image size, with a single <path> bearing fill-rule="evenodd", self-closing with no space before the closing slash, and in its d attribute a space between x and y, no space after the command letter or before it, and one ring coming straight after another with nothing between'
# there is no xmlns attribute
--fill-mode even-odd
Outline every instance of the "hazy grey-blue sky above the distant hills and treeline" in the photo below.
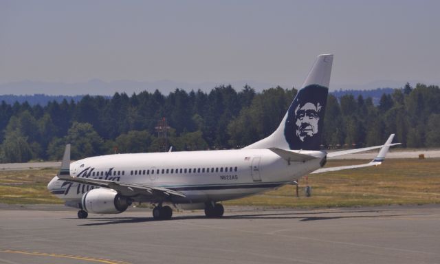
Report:
<svg viewBox="0 0 440 264"><path fill-rule="evenodd" d="M0 83L440 80L440 1L4 1Z"/></svg>

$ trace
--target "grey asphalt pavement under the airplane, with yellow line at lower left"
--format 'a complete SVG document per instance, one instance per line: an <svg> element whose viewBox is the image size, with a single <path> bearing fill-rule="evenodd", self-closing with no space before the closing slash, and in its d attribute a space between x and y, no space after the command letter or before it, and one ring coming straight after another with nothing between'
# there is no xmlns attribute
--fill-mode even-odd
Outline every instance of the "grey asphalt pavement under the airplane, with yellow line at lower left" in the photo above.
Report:
<svg viewBox="0 0 440 264"><path fill-rule="evenodd" d="M0 263L440 263L440 206L226 208L222 219L134 208L77 219L0 207Z"/></svg>

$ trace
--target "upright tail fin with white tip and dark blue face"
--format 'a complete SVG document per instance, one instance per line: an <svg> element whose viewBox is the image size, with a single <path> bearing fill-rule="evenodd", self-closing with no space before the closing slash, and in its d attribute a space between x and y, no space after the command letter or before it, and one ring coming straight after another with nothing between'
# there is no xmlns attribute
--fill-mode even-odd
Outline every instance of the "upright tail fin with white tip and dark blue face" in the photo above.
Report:
<svg viewBox="0 0 440 264"><path fill-rule="evenodd" d="M332 54L319 55L278 129L245 148L319 150L332 64Z"/></svg>

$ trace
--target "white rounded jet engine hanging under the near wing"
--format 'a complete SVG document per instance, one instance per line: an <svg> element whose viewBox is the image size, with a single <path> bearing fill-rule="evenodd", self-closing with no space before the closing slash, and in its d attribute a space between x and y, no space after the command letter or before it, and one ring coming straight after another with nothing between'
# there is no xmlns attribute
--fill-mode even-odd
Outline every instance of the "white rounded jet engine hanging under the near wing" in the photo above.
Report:
<svg viewBox="0 0 440 264"><path fill-rule="evenodd" d="M115 190L98 188L89 190L81 199L83 210L96 214L118 214L131 205L131 199L123 197Z"/></svg>

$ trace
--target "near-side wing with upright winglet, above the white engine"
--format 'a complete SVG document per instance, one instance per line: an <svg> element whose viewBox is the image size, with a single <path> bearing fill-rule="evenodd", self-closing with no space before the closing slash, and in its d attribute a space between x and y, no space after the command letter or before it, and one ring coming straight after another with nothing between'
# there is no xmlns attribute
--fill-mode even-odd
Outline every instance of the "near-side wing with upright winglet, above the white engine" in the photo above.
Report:
<svg viewBox="0 0 440 264"><path fill-rule="evenodd" d="M146 184L131 184L131 183L124 183L121 181L109 181L107 179L72 177L70 175L69 168L70 168L70 144L67 144L63 155L63 162L61 162L61 169L57 175L58 178L62 179L63 181L77 182L79 184L87 184L91 186L110 188L119 192L121 195L127 197L133 197L137 195L143 195L151 198L170 197L173 195L179 197L186 197L183 193L177 192L175 190L170 190L167 188L156 187L156 186L149 186Z"/></svg>

